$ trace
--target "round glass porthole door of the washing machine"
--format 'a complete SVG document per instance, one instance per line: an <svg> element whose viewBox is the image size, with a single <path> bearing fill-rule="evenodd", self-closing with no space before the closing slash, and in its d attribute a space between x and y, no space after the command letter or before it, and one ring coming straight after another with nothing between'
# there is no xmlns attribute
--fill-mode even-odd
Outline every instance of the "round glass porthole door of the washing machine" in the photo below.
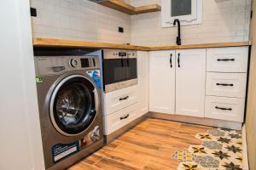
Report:
<svg viewBox="0 0 256 170"><path fill-rule="evenodd" d="M72 75L55 87L49 104L49 115L55 129L65 135L83 133L94 121L99 96L90 78Z"/></svg>

